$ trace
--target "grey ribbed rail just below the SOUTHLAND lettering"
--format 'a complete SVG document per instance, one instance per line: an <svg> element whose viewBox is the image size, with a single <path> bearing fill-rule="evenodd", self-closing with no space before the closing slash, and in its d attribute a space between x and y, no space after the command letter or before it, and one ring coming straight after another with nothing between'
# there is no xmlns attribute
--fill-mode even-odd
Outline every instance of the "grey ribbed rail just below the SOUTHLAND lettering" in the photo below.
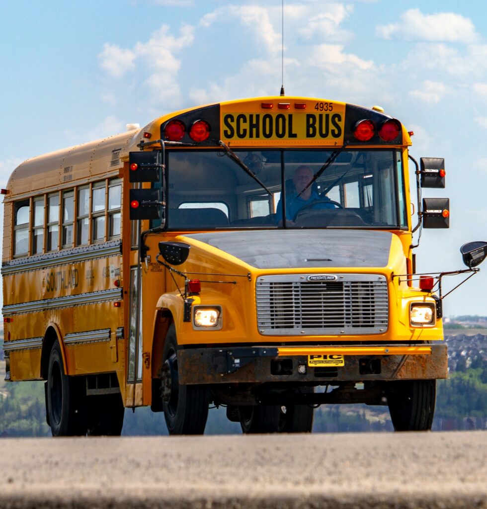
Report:
<svg viewBox="0 0 487 509"><path fill-rule="evenodd" d="M14 314L48 311L50 309L94 304L98 302L119 300L122 298L122 291L120 288L110 288L109 290L101 290L99 292L67 295L65 297L56 297L54 299L34 300L31 302L22 302L20 304L11 304L3 307L2 314L6 317Z"/></svg>

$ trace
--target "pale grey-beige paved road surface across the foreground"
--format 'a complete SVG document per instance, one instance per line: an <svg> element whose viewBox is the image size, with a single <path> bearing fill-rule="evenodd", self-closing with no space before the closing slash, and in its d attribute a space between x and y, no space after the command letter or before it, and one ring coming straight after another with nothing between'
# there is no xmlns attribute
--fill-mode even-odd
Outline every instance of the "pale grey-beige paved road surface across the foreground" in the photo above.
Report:
<svg viewBox="0 0 487 509"><path fill-rule="evenodd" d="M487 432L0 439L0 507L487 508Z"/></svg>

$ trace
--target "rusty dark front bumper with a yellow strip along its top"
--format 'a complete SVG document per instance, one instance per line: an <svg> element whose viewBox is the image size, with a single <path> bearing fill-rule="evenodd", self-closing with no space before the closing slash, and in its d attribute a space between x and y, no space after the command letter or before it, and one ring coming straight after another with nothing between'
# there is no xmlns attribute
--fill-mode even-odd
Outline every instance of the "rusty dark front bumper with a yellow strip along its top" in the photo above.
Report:
<svg viewBox="0 0 487 509"><path fill-rule="evenodd" d="M345 365L309 367L308 355L339 354ZM178 351L181 384L426 380L448 378L446 345L258 346ZM302 366L305 366L304 368Z"/></svg>

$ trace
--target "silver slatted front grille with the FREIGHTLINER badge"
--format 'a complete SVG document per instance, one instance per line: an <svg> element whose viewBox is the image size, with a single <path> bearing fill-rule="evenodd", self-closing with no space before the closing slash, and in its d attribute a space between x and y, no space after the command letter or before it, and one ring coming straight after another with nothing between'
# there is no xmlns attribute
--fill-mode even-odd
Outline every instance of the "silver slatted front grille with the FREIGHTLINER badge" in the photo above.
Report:
<svg viewBox="0 0 487 509"><path fill-rule="evenodd" d="M257 278L261 334L378 334L387 329L384 276L343 274L336 281L308 281L307 276Z"/></svg>

